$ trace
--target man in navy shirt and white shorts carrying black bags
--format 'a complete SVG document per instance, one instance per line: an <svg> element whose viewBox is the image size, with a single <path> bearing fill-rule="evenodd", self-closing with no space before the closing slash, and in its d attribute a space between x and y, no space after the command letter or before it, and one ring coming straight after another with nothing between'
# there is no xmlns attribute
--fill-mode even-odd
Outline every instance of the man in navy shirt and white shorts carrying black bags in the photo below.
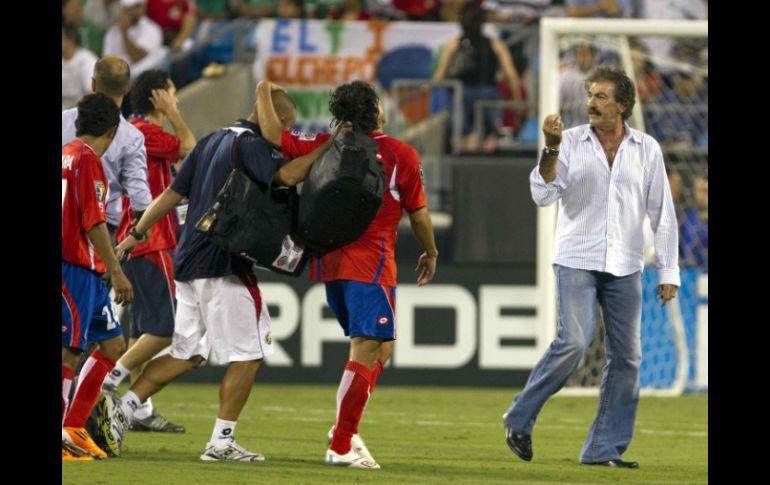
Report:
<svg viewBox="0 0 770 485"><path fill-rule="evenodd" d="M296 108L284 93L275 100L282 127L290 127ZM288 162L268 144L257 124L256 104L248 119L217 130L195 146L176 179L155 199L134 230L117 247L131 251L150 227L188 197L188 217L197 221L211 207L230 170L238 166L252 180L293 186L302 181L314 153ZM114 441L123 439L126 418L147 398L176 377L189 372L215 352L228 362L219 392L219 412L203 461L264 461L235 441L235 426L251 393L262 359L273 353L270 315L257 286L251 262L228 253L185 224L174 258L177 313L171 352L153 359L119 402L110 402ZM114 425L114 426L113 426Z"/></svg>

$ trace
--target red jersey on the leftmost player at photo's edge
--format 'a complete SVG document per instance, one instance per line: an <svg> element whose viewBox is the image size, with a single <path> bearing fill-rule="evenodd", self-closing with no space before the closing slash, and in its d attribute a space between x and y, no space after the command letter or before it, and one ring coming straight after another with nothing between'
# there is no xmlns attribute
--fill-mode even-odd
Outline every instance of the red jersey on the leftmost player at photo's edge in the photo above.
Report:
<svg viewBox="0 0 770 485"><path fill-rule="evenodd" d="M104 263L88 239L88 231L107 222L107 178L93 148L75 138L61 149L62 261L101 274Z"/></svg>

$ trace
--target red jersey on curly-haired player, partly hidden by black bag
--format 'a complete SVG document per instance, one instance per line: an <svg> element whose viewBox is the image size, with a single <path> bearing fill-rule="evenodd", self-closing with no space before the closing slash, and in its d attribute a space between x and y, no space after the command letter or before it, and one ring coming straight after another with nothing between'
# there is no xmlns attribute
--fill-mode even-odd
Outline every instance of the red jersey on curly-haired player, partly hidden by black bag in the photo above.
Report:
<svg viewBox="0 0 770 485"><path fill-rule="evenodd" d="M297 158L310 153L330 136L284 131L281 149L285 158ZM385 165L387 187L382 207L361 237L313 258L310 268L313 280L353 280L396 286L396 236L402 211L414 212L428 205L417 151L383 133L369 136L377 142L377 159Z"/></svg>

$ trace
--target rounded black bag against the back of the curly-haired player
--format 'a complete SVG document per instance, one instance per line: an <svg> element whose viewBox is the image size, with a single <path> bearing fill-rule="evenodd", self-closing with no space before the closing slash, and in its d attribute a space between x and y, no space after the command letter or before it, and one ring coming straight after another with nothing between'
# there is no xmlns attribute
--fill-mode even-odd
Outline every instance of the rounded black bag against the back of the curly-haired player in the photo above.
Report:
<svg viewBox="0 0 770 485"><path fill-rule="evenodd" d="M374 220L384 195L377 142L362 132L340 132L302 186L294 240L315 255L350 244Z"/></svg>

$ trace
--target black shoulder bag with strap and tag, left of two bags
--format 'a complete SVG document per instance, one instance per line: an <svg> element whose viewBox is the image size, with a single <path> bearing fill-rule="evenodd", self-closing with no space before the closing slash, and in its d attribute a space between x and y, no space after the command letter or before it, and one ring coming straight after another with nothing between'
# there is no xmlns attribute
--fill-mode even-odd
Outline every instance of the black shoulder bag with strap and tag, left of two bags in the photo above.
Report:
<svg viewBox="0 0 770 485"><path fill-rule="evenodd" d="M232 171L195 229L225 251L280 274L298 276L307 261L292 241L297 190L257 183L238 165L238 137L230 156Z"/></svg>

